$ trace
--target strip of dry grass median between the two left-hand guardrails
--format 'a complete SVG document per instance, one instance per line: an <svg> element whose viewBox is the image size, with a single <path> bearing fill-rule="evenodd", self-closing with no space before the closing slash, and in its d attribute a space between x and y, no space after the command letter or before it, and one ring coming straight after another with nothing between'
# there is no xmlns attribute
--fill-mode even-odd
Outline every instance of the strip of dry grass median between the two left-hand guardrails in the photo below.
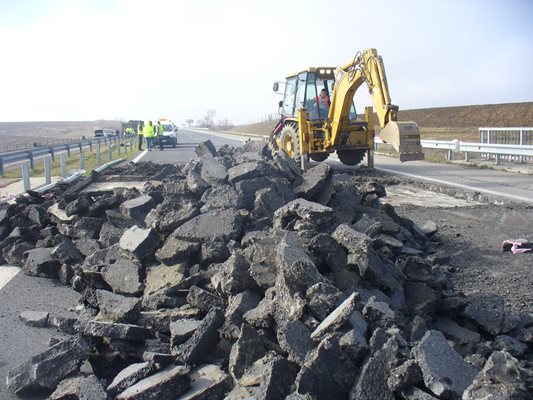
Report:
<svg viewBox="0 0 533 400"><path fill-rule="evenodd" d="M89 174L95 168L98 168L100 165L106 164L112 160L116 160L118 157L116 148L113 149L112 158L109 158L108 153L109 146L102 146L100 148L100 164L96 162L96 146L93 147L93 151L89 149L84 149L84 170L85 174ZM137 152L136 146L121 146L120 147L120 158L125 158ZM52 160L50 163L51 167L51 176L61 176L61 157L56 155L55 160ZM80 153L72 152L70 157L66 159L66 170L67 175L70 175L73 171L78 171L80 169ZM34 168L30 169L30 178L44 177L44 159L38 159L34 162ZM22 167L13 167L6 168L2 179L6 180L20 180L22 179Z"/></svg>

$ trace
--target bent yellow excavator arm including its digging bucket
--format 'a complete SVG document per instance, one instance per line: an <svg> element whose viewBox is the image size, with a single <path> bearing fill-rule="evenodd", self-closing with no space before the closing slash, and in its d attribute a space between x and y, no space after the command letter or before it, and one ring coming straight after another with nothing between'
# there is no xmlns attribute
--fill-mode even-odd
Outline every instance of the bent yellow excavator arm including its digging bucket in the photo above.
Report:
<svg viewBox="0 0 533 400"><path fill-rule="evenodd" d="M353 61L338 67L335 74L327 121L332 143L339 143L341 137L350 131L349 109L355 92L366 83L382 128L381 140L393 145L400 161L424 158L418 125L415 122L398 122L398 106L391 102L383 60L375 49L357 53Z"/></svg>

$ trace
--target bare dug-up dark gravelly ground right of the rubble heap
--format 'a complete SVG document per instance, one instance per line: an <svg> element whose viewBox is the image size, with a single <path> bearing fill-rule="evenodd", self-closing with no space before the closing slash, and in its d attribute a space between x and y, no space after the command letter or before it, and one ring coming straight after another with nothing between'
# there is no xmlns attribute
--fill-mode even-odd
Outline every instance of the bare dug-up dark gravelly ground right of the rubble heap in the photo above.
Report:
<svg viewBox="0 0 533 400"><path fill-rule="evenodd" d="M401 185L401 183L400 183ZM392 190L392 188L391 188ZM476 204L451 208L395 205L396 212L419 226L436 223L432 241L448 255L454 289L465 295L496 294L515 312L533 313L533 252L501 251L507 239L533 242L533 206Z"/></svg>

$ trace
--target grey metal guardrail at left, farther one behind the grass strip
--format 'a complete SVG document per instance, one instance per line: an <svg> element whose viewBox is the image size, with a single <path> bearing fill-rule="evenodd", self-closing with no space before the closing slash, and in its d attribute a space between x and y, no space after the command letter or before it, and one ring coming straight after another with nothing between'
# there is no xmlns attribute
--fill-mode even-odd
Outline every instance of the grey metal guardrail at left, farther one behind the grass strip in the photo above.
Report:
<svg viewBox="0 0 533 400"><path fill-rule="evenodd" d="M83 153L83 149L89 147L92 152L93 146L109 145L109 144L122 144L125 140L130 140L135 138L136 135L120 135L120 136L111 136L96 138L92 140L81 140L77 143L64 143L55 146L48 147L37 147L35 149L17 151L13 153L0 154L0 176L4 175L4 168L6 165L18 163L21 161L29 161L30 168L34 168L34 162L36 158L43 156L50 156L52 160L55 160L55 156L60 152L67 152L67 156L70 156L71 150L77 149L80 154Z"/></svg>

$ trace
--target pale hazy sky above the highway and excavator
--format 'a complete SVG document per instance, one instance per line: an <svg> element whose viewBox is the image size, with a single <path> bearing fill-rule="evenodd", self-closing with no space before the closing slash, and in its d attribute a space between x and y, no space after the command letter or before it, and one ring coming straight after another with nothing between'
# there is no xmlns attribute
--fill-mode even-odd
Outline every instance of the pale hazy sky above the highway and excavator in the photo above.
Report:
<svg viewBox="0 0 533 400"><path fill-rule="evenodd" d="M369 47L400 109L533 101L532 21L533 0L1 0L0 121L247 123L274 81Z"/></svg>

